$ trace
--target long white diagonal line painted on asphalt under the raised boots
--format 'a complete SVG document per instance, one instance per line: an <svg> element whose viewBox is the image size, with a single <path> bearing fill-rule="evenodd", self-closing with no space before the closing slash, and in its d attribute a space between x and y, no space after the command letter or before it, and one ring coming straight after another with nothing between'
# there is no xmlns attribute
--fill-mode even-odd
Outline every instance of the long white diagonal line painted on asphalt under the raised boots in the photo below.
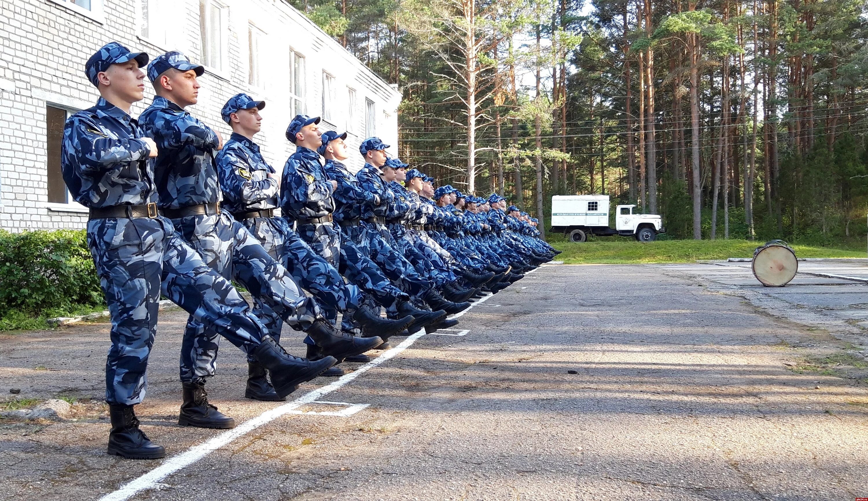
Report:
<svg viewBox="0 0 868 501"><path fill-rule="evenodd" d="M449 318L459 318L461 316L464 316L464 314L470 311L470 309L473 309L473 307L488 301L491 296L494 295L489 294L488 296L480 298L479 301L471 304L470 308L465 309L464 311L459 311L458 313L450 316ZM416 334L411 335L410 337L405 339L395 348L386 350L385 352L383 352L382 355L379 355L377 358L369 361L362 367L357 368L352 373L342 375L338 379L338 381L334 381L330 385L325 385L324 387L319 387L315 390L312 390L311 392L301 395L299 398L291 402L288 402L279 407L274 407L273 409L266 411L265 413L261 413L259 416L256 416L252 420L244 421L239 426L236 426L227 432L220 433L214 438L202 442L198 446L190 447L189 449L187 449L187 452L181 452L181 454L167 459L166 462L162 465L159 465L150 472L141 475L141 477L139 478L134 478L127 484L122 485L121 488L117 491L106 494L105 496L100 498L99 501L126 501L127 499L135 496L135 494L138 492L158 487L160 485L160 481L163 478L166 478L174 472L178 472L186 468L187 466L194 464L196 461L204 458L211 452L220 449L220 447L227 446L229 443L233 442L233 440L239 439L247 433L252 432L256 428L264 426L271 421L278 419L280 416L293 413L293 411L295 411L299 407L313 403L319 400L320 397L325 396L326 394L330 394L334 391L339 390L341 387L345 387L358 376L365 374L365 372L377 367L378 365L384 363L385 361L388 361L391 358L394 358L405 349L410 348L411 345L423 335L425 335L425 330L421 329Z"/></svg>

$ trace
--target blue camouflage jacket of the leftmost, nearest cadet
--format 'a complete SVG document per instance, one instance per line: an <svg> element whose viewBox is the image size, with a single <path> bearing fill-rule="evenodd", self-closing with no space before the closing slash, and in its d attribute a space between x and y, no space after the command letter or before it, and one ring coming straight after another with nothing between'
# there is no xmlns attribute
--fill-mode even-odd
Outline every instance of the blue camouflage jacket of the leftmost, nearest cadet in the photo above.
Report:
<svg viewBox="0 0 868 501"><path fill-rule="evenodd" d="M86 207L156 201L154 162L138 122L102 99L63 127L61 169L69 193Z"/></svg>

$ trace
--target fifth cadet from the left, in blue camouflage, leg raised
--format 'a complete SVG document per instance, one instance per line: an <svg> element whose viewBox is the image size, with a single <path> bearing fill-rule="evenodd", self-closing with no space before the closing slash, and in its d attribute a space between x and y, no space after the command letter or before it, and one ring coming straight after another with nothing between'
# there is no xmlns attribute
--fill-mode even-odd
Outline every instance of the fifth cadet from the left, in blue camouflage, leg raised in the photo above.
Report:
<svg viewBox="0 0 868 501"><path fill-rule="evenodd" d="M426 311L418 309L409 301L410 296L391 283L378 264L374 263L366 251L362 251L349 237L346 228L361 224L361 206L363 204L380 205L383 203L377 194L366 192L358 185L358 180L352 175L343 160L349 158L346 149L346 133L327 131L321 137L322 145L318 153L325 157L325 174L328 179L337 184L332 196L335 203L333 221L339 224L340 237L340 272L350 282L357 284L371 296L379 305L385 307L392 318L412 316L414 322L406 334L412 334L418 329L439 328L446 312L442 310Z"/></svg>

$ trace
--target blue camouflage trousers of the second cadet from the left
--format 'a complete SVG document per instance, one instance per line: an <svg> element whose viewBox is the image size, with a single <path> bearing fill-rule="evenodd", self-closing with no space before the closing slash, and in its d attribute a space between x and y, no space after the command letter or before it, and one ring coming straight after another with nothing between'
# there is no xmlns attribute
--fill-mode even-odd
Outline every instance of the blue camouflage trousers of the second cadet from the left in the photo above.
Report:
<svg viewBox="0 0 868 501"><path fill-rule="evenodd" d="M319 304L305 296L286 268L227 211L177 218L173 223L208 266L250 292L257 318L279 317L293 329L304 330L322 317ZM274 325L266 328L276 330ZM191 316L181 342L181 381L213 376L219 348L220 338L214 330Z"/></svg>

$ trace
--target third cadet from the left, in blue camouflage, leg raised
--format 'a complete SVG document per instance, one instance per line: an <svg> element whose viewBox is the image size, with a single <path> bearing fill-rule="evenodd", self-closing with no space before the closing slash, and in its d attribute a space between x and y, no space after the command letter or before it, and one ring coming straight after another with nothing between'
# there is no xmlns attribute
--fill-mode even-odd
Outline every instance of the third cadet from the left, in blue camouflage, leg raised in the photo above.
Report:
<svg viewBox="0 0 868 501"><path fill-rule="evenodd" d="M319 302L325 318L334 323L338 311L345 319L356 319L365 327L369 337L384 333L394 334L405 329L412 318L394 322L372 315L361 306L362 294L355 285L347 285L338 270L292 230L286 219L274 216L278 179L272 166L260 153L253 135L260 132L259 111L265 101L254 101L247 94L236 94L224 105L221 116L233 128L232 137L215 159L223 191L223 207L247 227L271 257L277 259L305 290ZM265 322L274 337L279 335L283 320L271 309L263 309L260 320ZM310 337L308 359L320 358L319 349ZM312 351L317 352L316 354ZM315 356L314 356L315 355ZM370 361L367 355L347 357L346 361ZM267 380L259 364L251 361L247 380L248 398L271 400ZM343 375L340 368L332 368L323 375Z"/></svg>

